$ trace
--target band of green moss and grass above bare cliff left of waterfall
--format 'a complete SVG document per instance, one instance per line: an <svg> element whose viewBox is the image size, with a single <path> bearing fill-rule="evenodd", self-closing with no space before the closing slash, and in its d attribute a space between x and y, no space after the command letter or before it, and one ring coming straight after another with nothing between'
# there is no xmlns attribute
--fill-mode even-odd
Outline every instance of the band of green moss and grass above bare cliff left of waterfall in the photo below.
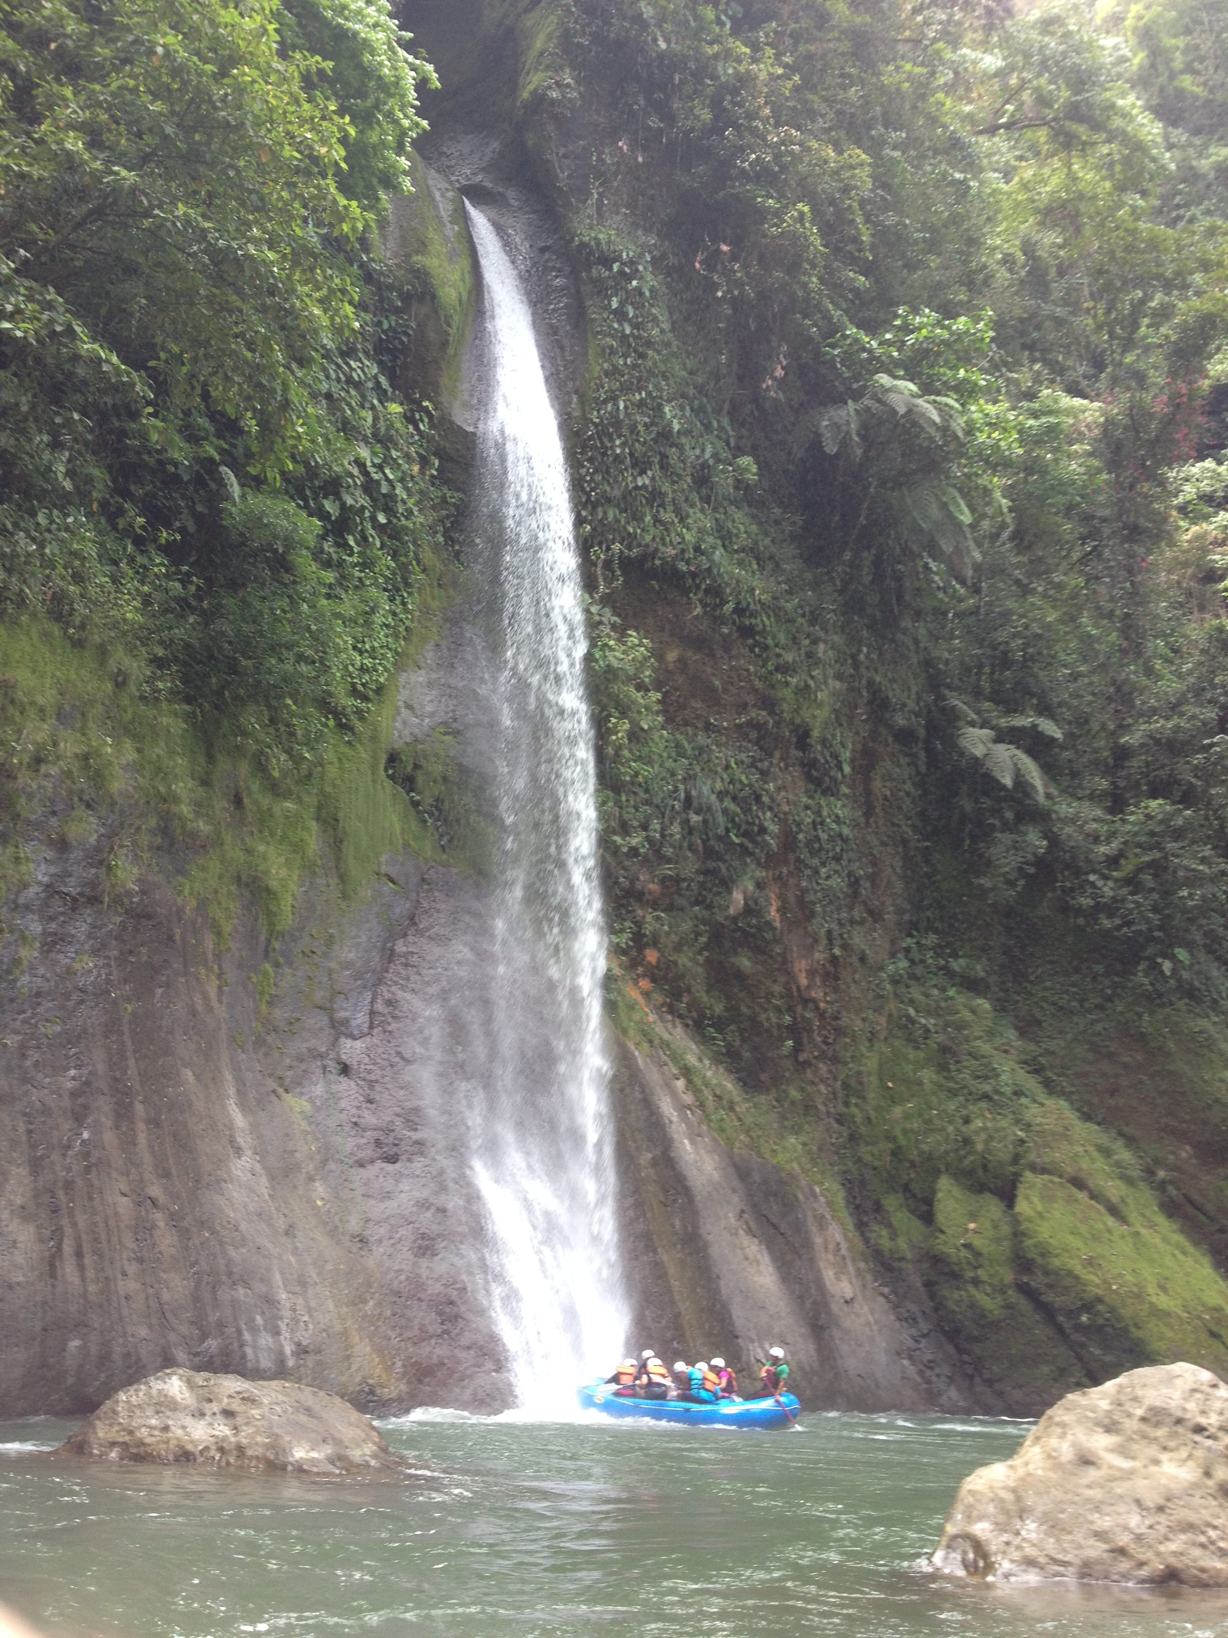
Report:
<svg viewBox="0 0 1228 1638"><path fill-rule="evenodd" d="M334 731L316 763L283 780L224 740L206 745L183 706L139 683L139 662L115 649L74 644L47 621L0 624L0 906L18 943L11 896L46 845L97 844L116 906L144 870L170 868L221 937L251 894L272 939L305 873L334 868L352 899L388 852L442 857L385 773L395 680L354 739Z"/></svg>

